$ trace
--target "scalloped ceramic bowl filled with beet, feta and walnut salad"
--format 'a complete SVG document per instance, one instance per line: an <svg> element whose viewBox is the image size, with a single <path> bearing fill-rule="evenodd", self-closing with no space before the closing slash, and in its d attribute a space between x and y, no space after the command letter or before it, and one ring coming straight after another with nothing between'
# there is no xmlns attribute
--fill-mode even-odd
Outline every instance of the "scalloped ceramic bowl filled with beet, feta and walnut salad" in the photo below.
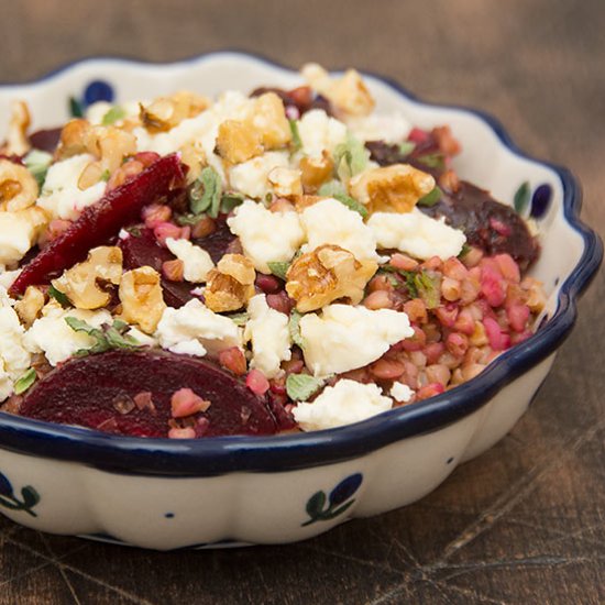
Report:
<svg viewBox="0 0 605 605"><path fill-rule="evenodd" d="M568 173L354 69L1 92L0 510L41 529L288 541L413 502L512 428L601 260Z"/></svg>

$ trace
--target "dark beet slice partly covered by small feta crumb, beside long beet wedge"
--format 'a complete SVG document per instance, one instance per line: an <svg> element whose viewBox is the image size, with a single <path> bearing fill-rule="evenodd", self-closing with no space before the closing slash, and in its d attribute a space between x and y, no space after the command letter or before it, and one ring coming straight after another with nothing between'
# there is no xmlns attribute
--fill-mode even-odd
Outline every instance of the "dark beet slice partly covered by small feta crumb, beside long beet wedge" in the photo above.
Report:
<svg viewBox="0 0 605 605"><path fill-rule="evenodd" d="M123 265L127 271L150 266L162 274L163 263L176 258L169 250L157 243L153 231L144 227L132 230L127 239L119 241L118 245L122 249ZM175 309L183 307L191 298L195 298L191 294L194 287L187 282L170 282L162 277L164 302Z"/></svg>

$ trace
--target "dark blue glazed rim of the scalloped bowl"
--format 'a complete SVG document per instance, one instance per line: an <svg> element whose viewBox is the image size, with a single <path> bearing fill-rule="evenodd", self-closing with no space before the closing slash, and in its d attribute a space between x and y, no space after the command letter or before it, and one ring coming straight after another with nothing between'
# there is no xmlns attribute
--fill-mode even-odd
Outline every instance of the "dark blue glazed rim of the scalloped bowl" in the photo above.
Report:
<svg viewBox="0 0 605 605"><path fill-rule="evenodd" d="M65 65L34 82L41 84L82 64L116 64L170 67L234 56L264 63L294 74L278 63L249 52L218 51L175 63L154 64L123 57L90 57ZM582 194L570 170L525 154L498 120L475 109L420 101L391 78L366 73L403 97L424 106L454 109L486 122L499 141L517 156L537 162L558 174L563 188L563 215L584 241L582 256L561 285L558 307L549 321L527 341L503 353L477 377L455 389L417 404L336 429L273 437L213 437L168 440L120 437L94 430L53 425L0 413L0 448L29 455L72 461L103 471L133 474L216 476L233 472L275 473L320 466L359 458L405 439L443 428L472 414L528 369L548 358L569 336L576 318L576 301L603 260L603 243L580 220ZM11 87L12 85L2 85ZM14 86L22 86L21 84Z"/></svg>

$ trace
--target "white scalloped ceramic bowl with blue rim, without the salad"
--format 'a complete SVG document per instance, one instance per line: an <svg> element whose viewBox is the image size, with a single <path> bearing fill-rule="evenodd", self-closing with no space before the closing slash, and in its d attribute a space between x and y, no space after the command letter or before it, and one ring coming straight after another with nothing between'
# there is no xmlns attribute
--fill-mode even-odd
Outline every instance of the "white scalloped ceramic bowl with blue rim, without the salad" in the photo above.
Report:
<svg viewBox="0 0 605 605"><path fill-rule="evenodd" d="M524 155L492 118L420 102L377 77L367 81L378 110L400 110L419 127L450 124L464 150L459 173L496 199L510 202L521 183L530 184L542 233L532 274L550 295L548 321L470 383L326 431L138 439L0 413L4 515L42 531L162 550L292 542L421 498L513 428L573 326L602 243L579 220L571 174ZM34 84L0 87L0 116L11 99L24 98L37 129L64 122L67 99L82 92L89 101L112 94L127 100L180 88L213 95L299 84L296 73L238 53L170 65L94 59Z"/></svg>

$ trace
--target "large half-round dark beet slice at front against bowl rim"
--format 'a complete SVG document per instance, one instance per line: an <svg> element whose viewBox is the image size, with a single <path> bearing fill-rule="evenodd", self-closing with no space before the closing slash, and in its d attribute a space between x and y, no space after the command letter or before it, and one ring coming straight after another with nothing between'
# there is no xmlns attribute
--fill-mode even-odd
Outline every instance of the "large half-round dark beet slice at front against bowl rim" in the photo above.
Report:
<svg viewBox="0 0 605 605"><path fill-rule="evenodd" d="M210 361L163 351L110 351L72 359L28 393L20 414L116 435L167 437L170 397L184 387L211 402L195 417L209 422L204 437L279 430L266 402L232 374ZM133 406L142 392L152 394L154 409Z"/></svg>

